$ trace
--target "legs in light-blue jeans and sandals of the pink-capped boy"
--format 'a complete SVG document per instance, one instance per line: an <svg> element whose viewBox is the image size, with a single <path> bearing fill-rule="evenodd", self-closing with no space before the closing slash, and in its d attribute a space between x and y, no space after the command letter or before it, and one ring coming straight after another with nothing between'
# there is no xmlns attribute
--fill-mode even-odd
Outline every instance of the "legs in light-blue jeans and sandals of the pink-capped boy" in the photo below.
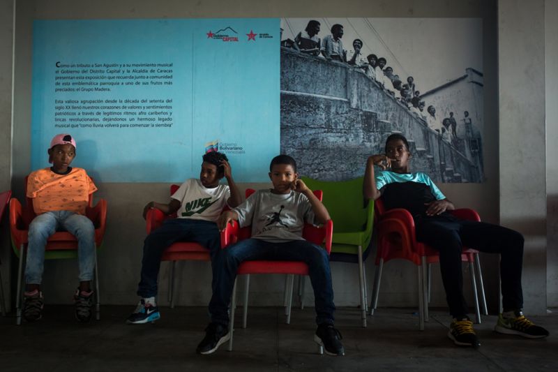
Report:
<svg viewBox="0 0 558 372"><path fill-rule="evenodd" d="M91 319L93 291L91 281L95 269L95 228L86 216L71 211L49 211L33 218L29 225L27 260L25 265L24 318L27 321L39 320L43 311L43 281L45 267L45 246L47 239L59 230L65 230L77 238L80 287L77 288L75 315L82 322Z"/></svg>

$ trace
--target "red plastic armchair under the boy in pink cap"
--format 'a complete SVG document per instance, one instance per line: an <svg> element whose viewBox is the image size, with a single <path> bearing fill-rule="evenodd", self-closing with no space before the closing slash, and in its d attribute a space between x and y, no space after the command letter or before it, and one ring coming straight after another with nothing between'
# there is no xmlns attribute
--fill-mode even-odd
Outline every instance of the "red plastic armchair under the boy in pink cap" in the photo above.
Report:
<svg viewBox="0 0 558 372"><path fill-rule="evenodd" d="M27 177L25 177L24 192L27 195ZM97 251L103 246L103 237L105 237L106 221L107 221L107 201L100 199L97 204L93 205L93 195L89 195L89 206L86 207L85 215L93 221L95 226L95 317L100 320L100 293L99 293L99 271L97 265ZM25 251L27 248L27 233L29 232L29 224L33 221L36 214L33 211L33 200L27 198L25 207L19 200L12 198L10 200L10 233L12 237L12 246L15 255L19 258L19 268L17 271L17 293L16 293L16 323L20 325L22 322L22 279L25 271ZM63 258L77 258L77 239L70 232L54 232L48 238L47 246L45 246L45 260L56 260Z"/></svg>

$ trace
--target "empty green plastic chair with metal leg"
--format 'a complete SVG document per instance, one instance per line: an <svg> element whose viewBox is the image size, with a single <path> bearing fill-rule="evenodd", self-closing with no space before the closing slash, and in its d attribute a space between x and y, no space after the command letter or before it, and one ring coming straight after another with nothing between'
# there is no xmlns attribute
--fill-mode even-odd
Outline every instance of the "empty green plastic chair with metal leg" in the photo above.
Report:
<svg viewBox="0 0 558 372"><path fill-rule="evenodd" d="M359 265L361 290L361 319L366 327L366 273L364 261L370 253L374 202L365 205L362 194L363 177L349 181L319 181L302 177L312 190L322 190L322 202L333 221L333 245L330 261L351 262Z"/></svg>

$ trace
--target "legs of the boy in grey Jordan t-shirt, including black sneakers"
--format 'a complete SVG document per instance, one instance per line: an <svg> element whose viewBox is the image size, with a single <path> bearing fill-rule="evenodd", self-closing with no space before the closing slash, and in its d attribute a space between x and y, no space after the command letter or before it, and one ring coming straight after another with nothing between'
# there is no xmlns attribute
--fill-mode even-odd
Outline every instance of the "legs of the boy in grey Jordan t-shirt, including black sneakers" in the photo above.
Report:
<svg viewBox="0 0 558 372"><path fill-rule="evenodd" d="M306 240L273 243L262 239L246 239L220 251L213 271L213 296L209 303L211 324L206 328L206 336L199 343L197 352L211 354L230 338L229 304L236 279L236 272L242 262L248 260L294 260L303 261L309 267L309 276L315 295L316 323L315 341L326 346L326 352L343 355L338 331L333 328L333 288L329 258L324 248ZM338 337L336 337L338 336ZM333 351L332 351L333 350Z"/></svg>

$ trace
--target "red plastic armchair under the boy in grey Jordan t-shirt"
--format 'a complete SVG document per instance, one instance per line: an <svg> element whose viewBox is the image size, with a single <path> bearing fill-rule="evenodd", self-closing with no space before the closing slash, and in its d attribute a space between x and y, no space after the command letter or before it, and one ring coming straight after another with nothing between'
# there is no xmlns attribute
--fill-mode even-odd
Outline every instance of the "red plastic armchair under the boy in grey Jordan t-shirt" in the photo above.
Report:
<svg viewBox="0 0 558 372"><path fill-rule="evenodd" d="M246 198L252 195L255 191L251 188L246 190ZM314 195L318 199L322 199L322 191L314 191ZM242 239L248 239L251 234L250 226L245 228L239 228L239 224L229 223L225 231L221 232L221 248L226 248L229 244L234 244L236 241ZM327 221L321 228L317 228L314 225L305 224L302 236L304 239L314 243L322 245L326 249L328 255L331 252L331 239L333 237L333 222ZM244 261L239 266L238 275L250 275L250 274L289 274L289 275L308 275L308 265L301 261L269 261L269 260L253 260ZM246 282L246 291L244 297L244 314L243 314L243 328L246 327L246 314L248 313L248 281ZM292 282L291 282L292 283ZM292 288L292 285L291 285ZM292 292L292 289L290 290ZM291 298L292 296L289 296ZM290 300L289 313L287 314L287 320L290 320ZM232 301L231 301L231 311L229 320L229 334L231 335L229 340L229 351L232 351L232 336L234 331L234 311L236 308L236 280L234 281L234 289L232 290ZM288 323L289 321L287 321Z"/></svg>

